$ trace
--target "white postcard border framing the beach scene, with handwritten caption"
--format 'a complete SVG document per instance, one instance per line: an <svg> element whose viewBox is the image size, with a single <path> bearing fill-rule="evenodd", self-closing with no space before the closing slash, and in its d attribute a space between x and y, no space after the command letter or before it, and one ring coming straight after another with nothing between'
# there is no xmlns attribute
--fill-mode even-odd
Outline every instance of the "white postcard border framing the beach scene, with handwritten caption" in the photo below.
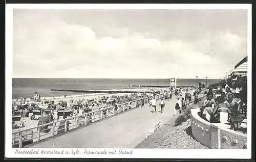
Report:
<svg viewBox="0 0 256 162"><path fill-rule="evenodd" d="M251 5L250 4L7 4L6 5L6 90L5 120L11 121L12 103L12 42L13 9L248 9L248 130L251 135ZM72 152L74 148L20 148L11 147L12 126L5 122L5 157L9 158L251 158L251 136L247 136L247 149L122 149L133 154L16 154L15 151L51 150ZM76 150L76 149L74 149ZM84 149L79 149L83 152ZM113 151L116 149L90 148L88 151Z"/></svg>

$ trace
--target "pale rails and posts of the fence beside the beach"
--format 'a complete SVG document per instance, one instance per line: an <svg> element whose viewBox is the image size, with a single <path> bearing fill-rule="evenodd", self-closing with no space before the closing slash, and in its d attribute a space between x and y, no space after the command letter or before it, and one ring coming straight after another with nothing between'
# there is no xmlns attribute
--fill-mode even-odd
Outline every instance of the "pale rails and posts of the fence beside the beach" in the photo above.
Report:
<svg viewBox="0 0 256 162"><path fill-rule="evenodd" d="M156 96L157 96L157 99L159 99L160 97L162 97L162 95L163 94L157 94ZM148 99L149 99L150 97L145 97L145 98L143 98L144 99L144 102L146 101L147 103L148 103ZM120 108L120 106L121 105L127 105L127 104L130 104L130 103L134 103L135 102L135 107L137 107L137 101L141 101L141 99L136 99L136 100L133 100L133 101L129 101L129 102L125 102L125 103L121 103L121 104L118 104L118 107ZM135 108L134 106L133 107L131 107L131 109L133 109L133 108ZM53 121L53 122L51 122L51 123L46 123L46 124L42 124L42 125L38 125L38 126L34 126L34 127L30 127L30 128L27 128L27 129L23 129L23 130L18 130L18 131L15 131L15 132L12 132L12 135L14 135L14 141L15 141L15 139L17 139L16 138L16 136L15 136L15 134L18 134L19 135L19 138L18 138L18 144L19 144L19 148L21 148L21 147L23 147L22 146L22 143L23 143L23 140L22 140L22 136L24 135L23 133L24 132L26 132L26 131L28 131L28 130L32 130L32 129L37 129L37 132L34 132L34 133L37 133L37 136L35 137L36 139L37 139L37 142L39 142L40 140L41 140L41 136L44 136L44 135L46 135L46 134L42 134L41 136L40 136L40 134L41 134L41 132L40 132L40 130L41 129L43 129L42 127L45 127L45 126L49 126L49 125L51 125L52 126L52 130L53 131L51 131L51 132L49 132L49 133L52 133L52 136L51 137L54 137L55 136L55 131L57 131L56 129L55 129L55 127L57 127L57 126L55 126L55 123L60 123L61 121L65 121L65 132L67 132L68 131L68 120L71 120L71 119L75 119L75 129L77 128L77 127L79 127L78 126L78 120L79 120L79 117L84 117L85 119L84 119L84 122L87 122L87 117L89 116L89 115L91 115L91 114L94 114L94 117L92 118L92 119L90 119L90 120L93 120L94 122L95 122L95 113L99 113L100 112L100 115L99 115L99 120L102 120L103 118L102 118L102 115L103 115L103 111L104 110L107 110L107 114L109 114L109 111L111 110L111 109L113 109L114 108L114 106L109 106L109 107L105 107L105 108L103 108L103 109L99 109L99 110L96 110L96 111L93 111L93 112L89 112L89 113L84 113L84 114L81 114L81 115L78 115L78 116L73 116L73 117L69 117L69 118L66 118L66 119L61 119L61 120L57 120L57 121ZM129 107L127 107L128 109L129 109ZM125 110L124 110L124 107L123 107L123 109L122 109L122 111L121 112L124 112ZM121 113L120 112L120 113ZM119 113L118 113L119 114ZM109 117L109 115L108 115L108 117ZM89 121L90 121L89 120ZM73 122L73 121L72 121ZM87 125L87 124L85 124L85 125ZM72 125L73 126L73 125ZM73 129L73 128L72 128ZM48 133L48 134L49 134ZM25 133L26 134L26 133ZM33 138L33 133L32 133L32 138ZM49 138L49 137L47 137L47 138ZM33 138L34 139L34 138ZM16 143L17 144L17 143ZM15 145L15 144L13 144L13 145Z"/></svg>

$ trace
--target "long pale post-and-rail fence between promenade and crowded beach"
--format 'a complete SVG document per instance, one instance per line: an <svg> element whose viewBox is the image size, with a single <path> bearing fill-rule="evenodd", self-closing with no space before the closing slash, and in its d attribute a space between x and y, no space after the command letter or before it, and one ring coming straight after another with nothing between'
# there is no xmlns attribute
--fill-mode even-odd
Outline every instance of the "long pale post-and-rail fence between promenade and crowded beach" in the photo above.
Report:
<svg viewBox="0 0 256 162"><path fill-rule="evenodd" d="M157 94L157 99L160 99L163 97L163 94ZM117 114L124 113L125 111L128 111L129 109L134 109L139 106L139 103L141 102L141 99L137 99L134 101L129 101L125 103L118 104ZM149 98L144 98L144 104L149 102ZM77 129L78 127L85 126L90 123L95 123L96 121L101 121L104 119L103 113L106 113L105 118L109 118L114 116L114 106L105 107L104 109L96 110L93 112L85 113L82 115L54 121L47 124L42 124L39 126L27 128L24 130L19 130L12 132L12 146L18 145L19 148L23 147L23 142L26 140L33 140L34 142L40 142L43 139L53 138L58 134L58 131L64 130L64 132L67 132L68 130ZM65 121L65 124L60 124ZM70 122L68 124L68 121ZM59 126L63 126L63 128L58 129ZM48 128L45 128L46 126L50 126ZM51 130L52 129L52 130ZM50 130L50 132L41 132L45 130ZM60 133L63 134L63 133ZM31 138L28 138L28 137ZM26 139L25 141L23 140ZM17 140L18 139L18 140ZM35 139L35 141L34 141Z"/></svg>

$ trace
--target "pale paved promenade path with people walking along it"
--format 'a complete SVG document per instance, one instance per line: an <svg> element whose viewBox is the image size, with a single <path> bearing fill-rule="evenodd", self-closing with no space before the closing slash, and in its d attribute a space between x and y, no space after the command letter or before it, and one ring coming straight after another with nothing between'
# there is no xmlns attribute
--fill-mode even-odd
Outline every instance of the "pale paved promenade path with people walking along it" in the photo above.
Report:
<svg viewBox="0 0 256 162"><path fill-rule="evenodd" d="M163 114L157 102L157 112L148 104L129 112L68 132L62 136L35 144L37 148L134 148L145 139L145 130L162 120L166 123L174 115L177 99L165 101Z"/></svg>

